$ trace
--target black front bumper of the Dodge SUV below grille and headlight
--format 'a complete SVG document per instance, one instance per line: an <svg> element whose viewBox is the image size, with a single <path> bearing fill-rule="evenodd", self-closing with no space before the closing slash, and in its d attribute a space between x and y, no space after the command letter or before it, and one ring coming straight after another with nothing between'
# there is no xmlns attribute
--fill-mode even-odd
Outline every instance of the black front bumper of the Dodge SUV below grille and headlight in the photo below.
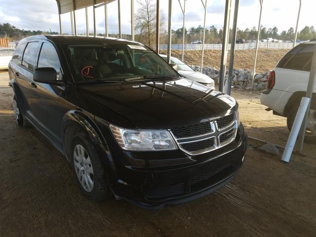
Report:
<svg viewBox="0 0 316 237"><path fill-rule="evenodd" d="M166 157L137 157L133 153L110 148L115 171L109 175L109 185L117 199L148 209L161 209L216 191L229 183L243 164L247 135L243 126L237 137L223 149L189 157L181 151L164 153ZM171 156L172 159L168 159ZM137 159L139 158L139 159Z"/></svg>

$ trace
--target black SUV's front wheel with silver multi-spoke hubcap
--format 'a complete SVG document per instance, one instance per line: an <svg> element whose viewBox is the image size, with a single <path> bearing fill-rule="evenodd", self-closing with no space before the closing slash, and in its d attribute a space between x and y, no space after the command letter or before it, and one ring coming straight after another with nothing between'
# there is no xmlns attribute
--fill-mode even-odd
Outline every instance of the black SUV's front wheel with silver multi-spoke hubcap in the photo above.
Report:
<svg viewBox="0 0 316 237"><path fill-rule="evenodd" d="M110 197L112 193L106 182L106 173L90 137L81 131L73 137L71 144L71 167L81 193L96 202Z"/></svg>

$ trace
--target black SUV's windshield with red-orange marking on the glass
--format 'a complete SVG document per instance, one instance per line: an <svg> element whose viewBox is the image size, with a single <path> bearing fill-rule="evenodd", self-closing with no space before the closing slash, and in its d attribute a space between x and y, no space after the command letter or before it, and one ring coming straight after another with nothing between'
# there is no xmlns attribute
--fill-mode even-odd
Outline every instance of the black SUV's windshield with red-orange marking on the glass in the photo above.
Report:
<svg viewBox="0 0 316 237"><path fill-rule="evenodd" d="M123 81L133 78L178 78L156 53L135 44L77 44L68 46L76 83Z"/></svg>

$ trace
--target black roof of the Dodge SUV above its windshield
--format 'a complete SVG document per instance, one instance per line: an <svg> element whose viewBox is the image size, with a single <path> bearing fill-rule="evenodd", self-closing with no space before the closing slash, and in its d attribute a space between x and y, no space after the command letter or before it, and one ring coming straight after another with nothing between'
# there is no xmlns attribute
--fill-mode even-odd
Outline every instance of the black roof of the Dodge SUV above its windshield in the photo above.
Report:
<svg viewBox="0 0 316 237"><path fill-rule="evenodd" d="M51 40L54 43L82 43L82 42L95 42L95 43L123 43L123 44L139 44L143 45L142 43L120 39L120 38L111 38L111 37L93 37L93 36L71 36L71 35L37 35L37 36L30 36L20 40L19 43L28 42L31 40Z"/></svg>

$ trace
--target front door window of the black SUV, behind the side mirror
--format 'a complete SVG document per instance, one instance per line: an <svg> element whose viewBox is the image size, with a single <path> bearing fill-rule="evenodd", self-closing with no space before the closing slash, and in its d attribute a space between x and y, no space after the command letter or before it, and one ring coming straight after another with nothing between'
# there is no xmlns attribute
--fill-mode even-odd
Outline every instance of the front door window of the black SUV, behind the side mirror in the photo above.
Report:
<svg viewBox="0 0 316 237"><path fill-rule="evenodd" d="M57 74L61 68L56 49L49 43L43 43L40 49L38 68L44 67L54 68Z"/></svg>

